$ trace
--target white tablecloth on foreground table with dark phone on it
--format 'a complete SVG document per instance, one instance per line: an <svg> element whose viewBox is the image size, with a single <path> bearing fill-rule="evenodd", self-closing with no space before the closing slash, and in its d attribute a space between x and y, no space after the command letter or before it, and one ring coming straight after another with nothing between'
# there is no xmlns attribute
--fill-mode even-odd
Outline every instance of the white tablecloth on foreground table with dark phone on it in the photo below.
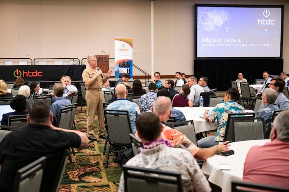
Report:
<svg viewBox="0 0 289 192"><path fill-rule="evenodd" d="M249 149L254 145L263 145L269 139L239 141L231 143L230 149L235 154L230 156L213 155L205 160L202 171L209 175L208 180L222 188L222 191L231 191L232 180L243 180L244 162ZM229 164L231 170L220 170L219 164Z"/></svg>

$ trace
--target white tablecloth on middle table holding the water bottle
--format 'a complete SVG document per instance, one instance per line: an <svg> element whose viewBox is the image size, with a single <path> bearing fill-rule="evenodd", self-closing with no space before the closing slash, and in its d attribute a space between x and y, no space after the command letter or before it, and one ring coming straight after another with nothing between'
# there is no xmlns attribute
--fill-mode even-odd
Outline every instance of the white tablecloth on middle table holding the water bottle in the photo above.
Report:
<svg viewBox="0 0 289 192"><path fill-rule="evenodd" d="M204 119L201 119L200 116L204 115L205 109L211 111L213 108L210 107L174 107L176 110L180 110L186 117L186 120L193 120L195 132L200 133L204 131L216 130L218 127L218 122L210 123Z"/></svg>

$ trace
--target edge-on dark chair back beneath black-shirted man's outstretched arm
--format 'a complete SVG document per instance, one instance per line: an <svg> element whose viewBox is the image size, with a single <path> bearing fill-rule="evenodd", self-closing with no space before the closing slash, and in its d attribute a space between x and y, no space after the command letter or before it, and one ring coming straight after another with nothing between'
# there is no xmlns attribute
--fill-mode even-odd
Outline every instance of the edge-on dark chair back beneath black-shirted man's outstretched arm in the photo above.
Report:
<svg viewBox="0 0 289 192"><path fill-rule="evenodd" d="M54 176L54 181L53 181L52 190L51 190L52 192L58 192L58 188L62 179L63 172L65 170L68 157L69 157L69 153L68 153L68 149L66 149L64 150L61 156L56 175Z"/></svg>

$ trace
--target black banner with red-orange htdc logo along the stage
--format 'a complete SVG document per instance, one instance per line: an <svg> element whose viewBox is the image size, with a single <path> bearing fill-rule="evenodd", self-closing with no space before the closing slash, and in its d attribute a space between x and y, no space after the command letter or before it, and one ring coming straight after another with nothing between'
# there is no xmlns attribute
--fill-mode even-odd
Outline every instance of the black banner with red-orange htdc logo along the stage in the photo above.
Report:
<svg viewBox="0 0 289 192"><path fill-rule="evenodd" d="M24 81L58 81L62 75L69 75L72 80L82 80L86 65L14 65L0 66L0 79L15 81L21 76Z"/></svg>

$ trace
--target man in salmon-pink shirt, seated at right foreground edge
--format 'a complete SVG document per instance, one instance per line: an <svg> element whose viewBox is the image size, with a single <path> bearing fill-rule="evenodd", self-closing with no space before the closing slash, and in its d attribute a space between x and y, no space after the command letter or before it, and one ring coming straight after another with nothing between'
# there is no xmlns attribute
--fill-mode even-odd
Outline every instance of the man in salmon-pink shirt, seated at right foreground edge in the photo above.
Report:
<svg viewBox="0 0 289 192"><path fill-rule="evenodd" d="M289 111L272 124L271 142L253 146L244 163L243 181L289 188Z"/></svg>

